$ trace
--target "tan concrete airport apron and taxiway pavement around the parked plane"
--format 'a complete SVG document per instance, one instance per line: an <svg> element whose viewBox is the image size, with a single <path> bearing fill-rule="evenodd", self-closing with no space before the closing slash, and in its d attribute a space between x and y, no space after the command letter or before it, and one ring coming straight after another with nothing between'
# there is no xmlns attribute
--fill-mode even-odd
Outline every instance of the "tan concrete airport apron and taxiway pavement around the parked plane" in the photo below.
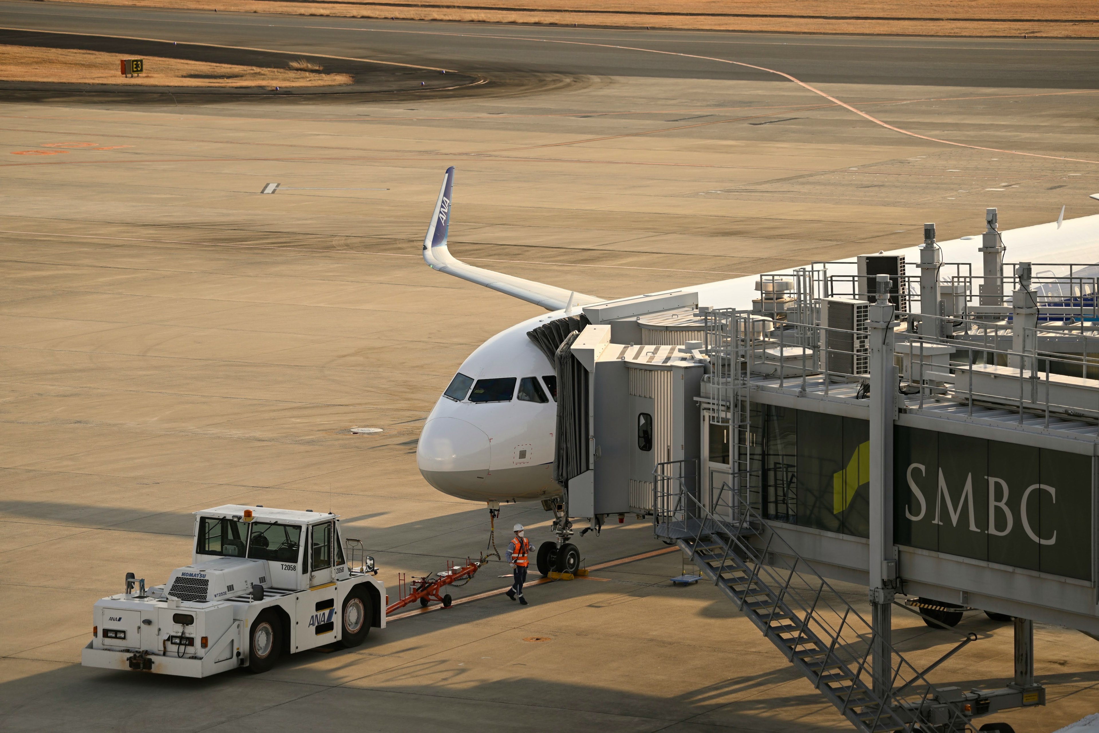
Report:
<svg viewBox="0 0 1099 733"><path fill-rule="evenodd" d="M1081 162L1099 159L1094 42L42 2L0 4L0 26L492 79L460 95L0 102L4 730L850 730L713 587L669 585L675 553L599 569L664 547L633 517L577 540L599 581L533 587L530 607L491 595L507 569L493 564L456 591L480 600L260 676L78 662L92 602L126 571L154 585L189 563L202 508L331 509L390 587L486 549L487 512L428 486L415 441L463 359L539 310L423 264L448 165L456 256L607 297L907 246L929 221L942 238L973 234L985 207L1006 229L1099 210L1099 166ZM781 70L924 137L774 74L662 49ZM540 506L506 506L497 526L517 521L548 538ZM921 665L956 642L897 624ZM936 669L942 681L1010 678L1010 624L970 614L959 631L980 640ZM1095 642L1052 626L1035 637L1050 706L999 718L1020 733L1099 706Z"/></svg>

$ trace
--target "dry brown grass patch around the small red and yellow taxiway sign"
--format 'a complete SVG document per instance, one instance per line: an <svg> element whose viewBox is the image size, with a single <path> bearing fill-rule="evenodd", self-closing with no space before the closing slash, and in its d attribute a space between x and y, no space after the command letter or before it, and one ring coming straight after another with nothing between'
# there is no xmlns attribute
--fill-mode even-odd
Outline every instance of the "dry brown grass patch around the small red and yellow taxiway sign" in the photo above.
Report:
<svg viewBox="0 0 1099 733"><path fill-rule="evenodd" d="M0 45L0 79L145 87L331 87L352 82L346 74L265 69L151 56L145 57L145 73L127 79L119 70L121 58L124 58L121 54L97 51Z"/></svg>

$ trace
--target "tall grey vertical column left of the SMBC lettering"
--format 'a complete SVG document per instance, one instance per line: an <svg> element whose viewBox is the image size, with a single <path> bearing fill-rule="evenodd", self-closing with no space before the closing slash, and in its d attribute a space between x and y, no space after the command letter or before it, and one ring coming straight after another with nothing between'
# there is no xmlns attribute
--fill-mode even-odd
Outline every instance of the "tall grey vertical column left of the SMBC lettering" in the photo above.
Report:
<svg viewBox="0 0 1099 733"><path fill-rule="evenodd" d="M926 321L924 321L926 323ZM870 545L869 592L874 625L873 677L879 698L892 684L892 600L897 555L892 537L892 436L897 368L893 366L893 306L889 276L878 275L877 300L869 307L870 346Z"/></svg>

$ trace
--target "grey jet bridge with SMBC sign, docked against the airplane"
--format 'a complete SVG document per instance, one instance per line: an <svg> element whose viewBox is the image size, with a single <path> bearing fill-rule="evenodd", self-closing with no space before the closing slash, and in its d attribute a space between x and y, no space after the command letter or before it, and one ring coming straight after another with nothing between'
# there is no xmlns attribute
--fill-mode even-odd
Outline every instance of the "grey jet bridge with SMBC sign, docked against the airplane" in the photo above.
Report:
<svg viewBox="0 0 1099 733"><path fill-rule="evenodd" d="M557 526L652 515L858 730L1045 704L1033 622L1099 636L1099 268L1003 263L989 216L976 275L929 225L919 262L761 276L751 310L585 308L555 352L575 386ZM868 613L837 580L867 587ZM1013 676L932 680L943 659L898 653L895 609L1011 621Z"/></svg>

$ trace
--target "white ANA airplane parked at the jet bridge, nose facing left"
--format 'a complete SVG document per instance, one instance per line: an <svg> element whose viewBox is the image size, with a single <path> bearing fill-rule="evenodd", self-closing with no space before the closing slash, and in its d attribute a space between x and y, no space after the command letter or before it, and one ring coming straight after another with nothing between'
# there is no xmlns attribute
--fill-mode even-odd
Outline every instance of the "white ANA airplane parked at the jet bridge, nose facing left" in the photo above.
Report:
<svg viewBox="0 0 1099 733"><path fill-rule="evenodd" d="M535 303L548 312L501 331L462 363L424 423L417 446L417 464L424 479L440 491L484 501L492 511L503 502L551 500L564 491L553 477L556 377L554 365L528 332L577 316L585 306L625 299L579 293L474 267L455 258L447 246L453 188L452 166L443 177L423 241L424 262L441 273ZM989 225L995 230L995 220ZM1099 244L1099 214L1064 220L1062 209L1056 222L998 235L1014 262L1091 262ZM983 255L978 251L981 238L978 234L939 243L941 262L969 263L974 273L981 273ZM904 255L908 263L920 260L918 247L888 254ZM844 262L854 263L854 258ZM1054 277L1064 275L1067 273L1056 273ZM758 275L748 275L686 289L697 291L699 306L746 309L751 307L757 280ZM679 290L685 288L660 292ZM552 502L544 506L548 503ZM570 535L567 522L567 517L560 524L555 519L554 532L562 540Z"/></svg>

